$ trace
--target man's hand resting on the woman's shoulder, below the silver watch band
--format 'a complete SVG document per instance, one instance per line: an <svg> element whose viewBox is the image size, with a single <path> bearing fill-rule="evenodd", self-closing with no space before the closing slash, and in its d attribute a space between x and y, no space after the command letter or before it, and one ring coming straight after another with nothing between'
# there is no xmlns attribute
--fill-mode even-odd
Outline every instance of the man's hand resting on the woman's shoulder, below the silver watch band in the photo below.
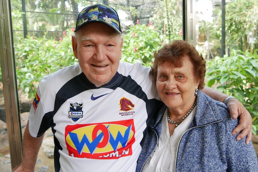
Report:
<svg viewBox="0 0 258 172"><path fill-rule="evenodd" d="M241 131L241 133L236 136L236 140L239 141L246 136L245 143L249 144L252 139L253 132L252 117L250 113L245 109L242 103L235 98L232 98L228 101L227 107L233 119L236 119L237 117L240 118L239 124L236 126L236 128L234 128L232 134L235 135Z"/></svg>

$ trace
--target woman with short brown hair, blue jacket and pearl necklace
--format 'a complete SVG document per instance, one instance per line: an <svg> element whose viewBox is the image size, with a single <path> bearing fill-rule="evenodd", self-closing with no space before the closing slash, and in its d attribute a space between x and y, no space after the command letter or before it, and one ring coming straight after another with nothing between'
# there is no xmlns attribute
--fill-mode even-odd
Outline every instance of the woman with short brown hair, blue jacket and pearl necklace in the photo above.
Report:
<svg viewBox="0 0 258 172"><path fill-rule="evenodd" d="M205 60L176 40L154 53L152 75L165 105L151 121L137 171L258 171L252 143L236 141L238 120L226 104L200 92Z"/></svg>

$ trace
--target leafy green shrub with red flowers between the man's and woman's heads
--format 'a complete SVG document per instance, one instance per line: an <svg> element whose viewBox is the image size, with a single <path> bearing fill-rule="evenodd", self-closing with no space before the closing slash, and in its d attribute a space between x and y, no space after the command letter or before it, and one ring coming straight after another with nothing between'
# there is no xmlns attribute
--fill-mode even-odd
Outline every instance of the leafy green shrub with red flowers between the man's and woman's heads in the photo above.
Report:
<svg viewBox="0 0 258 172"><path fill-rule="evenodd" d="M121 61L151 66L154 51L163 45L159 33L151 25L134 25L124 33Z"/></svg>

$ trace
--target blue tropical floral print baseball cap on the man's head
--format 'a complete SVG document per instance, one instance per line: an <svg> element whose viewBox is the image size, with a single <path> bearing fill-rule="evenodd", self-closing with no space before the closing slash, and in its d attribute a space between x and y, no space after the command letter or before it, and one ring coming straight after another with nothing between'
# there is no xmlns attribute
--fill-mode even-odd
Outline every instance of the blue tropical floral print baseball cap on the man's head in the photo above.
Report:
<svg viewBox="0 0 258 172"><path fill-rule="evenodd" d="M116 11L107 5L94 4L85 7L78 15L74 32L90 22L105 23L111 28L115 29L119 34L122 34L119 18Z"/></svg>

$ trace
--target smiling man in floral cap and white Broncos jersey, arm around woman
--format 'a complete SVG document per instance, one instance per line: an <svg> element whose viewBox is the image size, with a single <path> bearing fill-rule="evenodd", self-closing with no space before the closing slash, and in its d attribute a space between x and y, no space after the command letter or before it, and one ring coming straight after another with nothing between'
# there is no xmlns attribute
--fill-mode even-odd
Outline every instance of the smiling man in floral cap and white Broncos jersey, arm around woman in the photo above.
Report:
<svg viewBox="0 0 258 172"><path fill-rule="evenodd" d="M54 133L55 171L135 171L147 124L163 102L150 68L119 62L122 31L116 11L102 4L78 16L72 46L78 64L43 78L31 107L23 139L23 161L17 171L34 171L45 131ZM228 96L206 88L224 101ZM230 98L228 98L230 99ZM231 106L230 106L231 105ZM240 112L238 139L250 136L250 114ZM247 138L247 142L251 139Z"/></svg>

